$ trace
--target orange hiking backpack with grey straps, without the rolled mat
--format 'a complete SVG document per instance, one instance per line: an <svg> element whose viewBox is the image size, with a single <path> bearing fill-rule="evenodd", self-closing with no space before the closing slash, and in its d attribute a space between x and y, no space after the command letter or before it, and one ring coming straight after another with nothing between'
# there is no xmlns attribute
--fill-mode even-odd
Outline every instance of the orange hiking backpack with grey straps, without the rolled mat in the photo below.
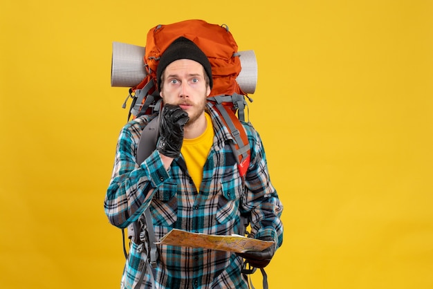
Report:
<svg viewBox="0 0 433 289"><path fill-rule="evenodd" d="M239 172L244 176L250 163L250 146L239 120L245 121L245 97L252 100L237 83L241 72L240 53L236 41L225 25L208 24L203 20L193 19L151 28L147 32L145 55L142 59L146 75L139 84L129 89L129 97L133 98L133 101L128 120L131 115L136 118L160 109L156 68L165 49L181 36L194 41L210 61L214 85L208 101L214 102L221 120L232 133L232 149L237 158Z"/></svg>

